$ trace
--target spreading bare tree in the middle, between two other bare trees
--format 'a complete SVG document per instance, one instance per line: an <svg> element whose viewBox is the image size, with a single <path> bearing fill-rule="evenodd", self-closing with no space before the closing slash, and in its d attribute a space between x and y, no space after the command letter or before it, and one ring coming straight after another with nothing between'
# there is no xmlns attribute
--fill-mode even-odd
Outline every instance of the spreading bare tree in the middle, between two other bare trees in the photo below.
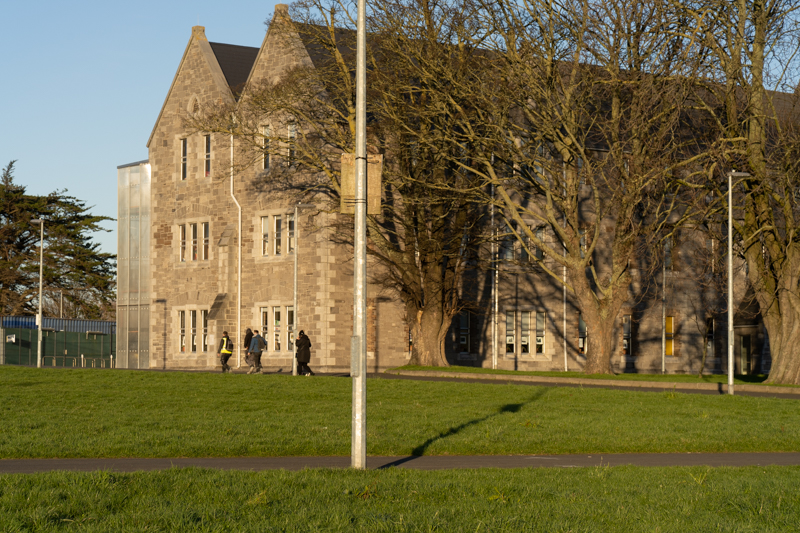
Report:
<svg viewBox="0 0 800 533"><path fill-rule="evenodd" d="M584 371L611 372L632 281L685 219L677 178L696 141L683 22L661 2L497 1L484 13L493 70L463 88L464 164L530 265L559 284L566 268L590 331Z"/></svg>

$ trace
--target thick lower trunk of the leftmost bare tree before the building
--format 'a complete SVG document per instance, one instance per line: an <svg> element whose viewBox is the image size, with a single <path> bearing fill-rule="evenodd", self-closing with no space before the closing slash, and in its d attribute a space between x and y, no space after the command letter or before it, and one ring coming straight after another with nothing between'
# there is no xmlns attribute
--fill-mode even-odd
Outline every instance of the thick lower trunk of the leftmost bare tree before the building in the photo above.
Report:
<svg viewBox="0 0 800 533"><path fill-rule="evenodd" d="M452 317L447 317L441 306L426 305L418 309L408 305L406 316L411 320L411 360L420 366L450 366L444 355L444 341Z"/></svg>

